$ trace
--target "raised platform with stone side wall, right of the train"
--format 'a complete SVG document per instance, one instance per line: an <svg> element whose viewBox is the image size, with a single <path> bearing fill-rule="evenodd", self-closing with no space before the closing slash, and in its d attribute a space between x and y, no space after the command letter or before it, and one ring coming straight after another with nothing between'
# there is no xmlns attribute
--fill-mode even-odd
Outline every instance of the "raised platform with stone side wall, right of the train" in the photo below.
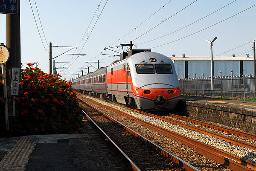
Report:
<svg viewBox="0 0 256 171"><path fill-rule="evenodd" d="M180 96L175 114L256 134L256 101Z"/></svg>

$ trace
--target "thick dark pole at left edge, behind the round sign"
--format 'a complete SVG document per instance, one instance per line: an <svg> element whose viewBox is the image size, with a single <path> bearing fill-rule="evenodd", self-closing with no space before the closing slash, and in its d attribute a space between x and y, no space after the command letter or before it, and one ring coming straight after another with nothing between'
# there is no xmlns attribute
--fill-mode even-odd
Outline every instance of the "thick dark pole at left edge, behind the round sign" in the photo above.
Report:
<svg viewBox="0 0 256 171"><path fill-rule="evenodd" d="M6 63L9 117L15 116L11 98L12 68L20 68L20 0L17 0L17 11L17 14L6 14L6 46L10 50L10 58Z"/></svg>

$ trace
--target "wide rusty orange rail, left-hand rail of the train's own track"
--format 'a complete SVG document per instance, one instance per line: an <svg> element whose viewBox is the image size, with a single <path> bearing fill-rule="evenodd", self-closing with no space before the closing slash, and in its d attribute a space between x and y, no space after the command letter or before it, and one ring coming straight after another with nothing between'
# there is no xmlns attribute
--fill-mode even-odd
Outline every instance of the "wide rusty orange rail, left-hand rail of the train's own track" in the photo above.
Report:
<svg viewBox="0 0 256 171"><path fill-rule="evenodd" d="M91 99L88 99L88 100L93 101ZM215 148L211 145L207 145L205 143L199 142L199 141L197 141L195 139L192 139L192 138L189 138L187 136L183 136L183 135L180 135L180 134L177 135L177 133L175 133L171 130L167 130L165 128L159 127L159 126L151 124L149 122L145 122L142 119L138 119L134 116L131 116L131 115L129 115L127 113L124 113L122 111L119 111L117 109L105 106L103 104L99 104L96 101L93 101L93 103L95 103L99 106L102 106L104 108L107 108L108 110L111 110L113 112L116 112L119 115L121 115L121 116L123 116L123 117L125 117L129 120L132 120L134 122L137 122L137 123L143 125L146 128L149 128L151 130L162 133L162 134L166 135L167 137L169 137L169 138L171 138L175 141L179 141L179 142L185 144L186 146L194 148L194 150L196 152L198 152L199 154L201 154L201 155L203 155L203 156L205 156L209 159L212 159L215 162L218 162L221 165L226 166L227 168L230 168L232 170L239 170L239 171L252 171L252 169L256 170L255 163L251 162L250 160L241 159L240 157L237 157L233 154L229 154L227 152L221 151L218 148ZM236 160L237 162L234 162L233 160L230 160L228 158Z"/></svg>

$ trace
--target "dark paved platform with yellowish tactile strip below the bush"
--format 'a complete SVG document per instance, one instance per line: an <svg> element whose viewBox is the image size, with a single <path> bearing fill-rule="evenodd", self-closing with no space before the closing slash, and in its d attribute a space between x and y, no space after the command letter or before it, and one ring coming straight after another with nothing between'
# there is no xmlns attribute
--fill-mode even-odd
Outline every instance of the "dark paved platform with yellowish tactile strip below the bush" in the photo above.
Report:
<svg viewBox="0 0 256 171"><path fill-rule="evenodd" d="M90 134L36 135L0 139L0 171L113 171Z"/></svg>

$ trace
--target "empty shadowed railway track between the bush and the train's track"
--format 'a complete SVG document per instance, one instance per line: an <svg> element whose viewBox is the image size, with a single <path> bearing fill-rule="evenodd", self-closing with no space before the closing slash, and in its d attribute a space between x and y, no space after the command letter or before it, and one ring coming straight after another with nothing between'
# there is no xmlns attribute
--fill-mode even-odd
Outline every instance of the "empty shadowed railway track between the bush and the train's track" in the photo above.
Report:
<svg viewBox="0 0 256 171"><path fill-rule="evenodd" d="M86 103L86 102L85 102ZM91 104L90 107L93 107ZM108 142L112 142L116 149L128 160L128 163L131 164L132 170L140 171L140 170L187 170L187 171L198 171L198 169L194 168L192 165L189 165L182 159L175 157L173 154L164 150L160 146L154 144L149 141L145 137L116 121L112 117L108 116L104 112L99 109L93 107L100 114L93 115L92 118L88 114L86 114L87 119L92 121L94 124L97 123L102 129L106 130L106 133L102 132L105 135L105 139L108 139ZM108 119L104 119L103 116ZM112 122L110 122L111 120ZM115 124L113 123L115 122ZM107 124L106 124L107 123ZM121 127L116 128L116 124ZM95 126L99 128L99 126ZM106 126L108 128L106 128ZM124 131L124 129L126 132ZM111 129L113 129L111 131ZM109 136L107 134L110 134ZM131 136L133 134L133 136ZM120 135L122 135L120 137ZM112 136L111 139L110 136ZM125 139L125 137L126 139ZM137 137L137 138L135 138ZM141 141L143 140L143 141ZM145 144L146 143L146 144ZM117 146L117 144L119 144ZM152 150L152 148L154 150ZM122 151L121 149L124 149ZM163 154L163 155L160 155ZM131 156L132 161L128 156ZM135 163L138 163L137 165ZM122 169L121 169L122 170Z"/></svg>

